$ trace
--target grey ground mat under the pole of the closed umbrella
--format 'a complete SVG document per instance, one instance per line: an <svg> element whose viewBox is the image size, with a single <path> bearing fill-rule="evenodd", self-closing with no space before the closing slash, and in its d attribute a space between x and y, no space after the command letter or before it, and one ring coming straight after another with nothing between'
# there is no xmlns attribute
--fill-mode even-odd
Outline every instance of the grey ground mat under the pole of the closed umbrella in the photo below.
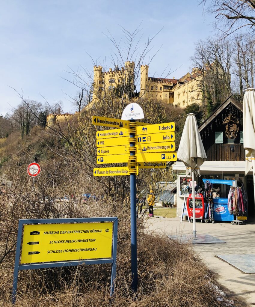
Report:
<svg viewBox="0 0 255 307"><path fill-rule="evenodd" d="M168 238L177 240L180 243L192 243L192 244L213 244L213 243L226 243L212 235L197 235L197 239L193 239L193 235L168 235ZM192 241L192 242L191 242Z"/></svg>

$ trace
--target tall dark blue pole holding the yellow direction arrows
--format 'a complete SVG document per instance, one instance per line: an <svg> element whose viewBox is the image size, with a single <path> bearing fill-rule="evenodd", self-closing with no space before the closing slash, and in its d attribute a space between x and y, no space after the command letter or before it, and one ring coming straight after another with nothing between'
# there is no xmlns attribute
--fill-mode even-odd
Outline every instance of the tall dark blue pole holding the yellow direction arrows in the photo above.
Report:
<svg viewBox="0 0 255 307"><path fill-rule="evenodd" d="M135 122L131 120L130 122ZM130 138L134 138L135 133L130 133ZM135 143L131 142L130 147ZM130 151L130 156L134 156L135 151ZM130 174L130 221L131 221L131 288L137 291L137 226L136 226L136 173Z"/></svg>

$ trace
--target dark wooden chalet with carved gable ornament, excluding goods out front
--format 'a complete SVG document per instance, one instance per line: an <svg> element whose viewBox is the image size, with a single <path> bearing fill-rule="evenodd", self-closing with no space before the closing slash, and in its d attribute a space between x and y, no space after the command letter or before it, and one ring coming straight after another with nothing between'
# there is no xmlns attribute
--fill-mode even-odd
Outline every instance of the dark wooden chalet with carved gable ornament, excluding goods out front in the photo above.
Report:
<svg viewBox="0 0 255 307"><path fill-rule="evenodd" d="M245 176L242 119L242 105L230 96L199 126L207 160L200 167L201 177L197 180L199 187L203 178L243 183L248 195L249 220L254 220L253 175L250 172ZM177 215L180 216L184 196L188 194L182 184L186 168L177 161L173 169L177 172ZM219 188L221 197L228 197L229 186L219 185Z"/></svg>

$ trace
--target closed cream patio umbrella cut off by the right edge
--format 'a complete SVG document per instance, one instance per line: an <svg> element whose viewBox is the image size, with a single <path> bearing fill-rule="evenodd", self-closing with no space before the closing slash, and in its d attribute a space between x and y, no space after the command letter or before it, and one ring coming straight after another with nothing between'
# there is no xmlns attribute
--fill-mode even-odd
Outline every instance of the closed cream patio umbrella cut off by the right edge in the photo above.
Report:
<svg viewBox="0 0 255 307"><path fill-rule="evenodd" d="M245 173L252 169L255 200L255 88L247 88L243 100Z"/></svg>

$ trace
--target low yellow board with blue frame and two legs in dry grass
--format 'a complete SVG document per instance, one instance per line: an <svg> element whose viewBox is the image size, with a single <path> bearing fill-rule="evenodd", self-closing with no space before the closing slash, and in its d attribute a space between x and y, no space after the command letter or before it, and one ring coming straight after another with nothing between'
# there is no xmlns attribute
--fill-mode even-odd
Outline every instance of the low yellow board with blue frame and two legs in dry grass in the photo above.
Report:
<svg viewBox="0 0 255 307"><path fill-rule="evenodd" d="M112 295L116 276L117 227L117 217L19 220L13 303L19 270L79 264L112 263Z"/></svg>

